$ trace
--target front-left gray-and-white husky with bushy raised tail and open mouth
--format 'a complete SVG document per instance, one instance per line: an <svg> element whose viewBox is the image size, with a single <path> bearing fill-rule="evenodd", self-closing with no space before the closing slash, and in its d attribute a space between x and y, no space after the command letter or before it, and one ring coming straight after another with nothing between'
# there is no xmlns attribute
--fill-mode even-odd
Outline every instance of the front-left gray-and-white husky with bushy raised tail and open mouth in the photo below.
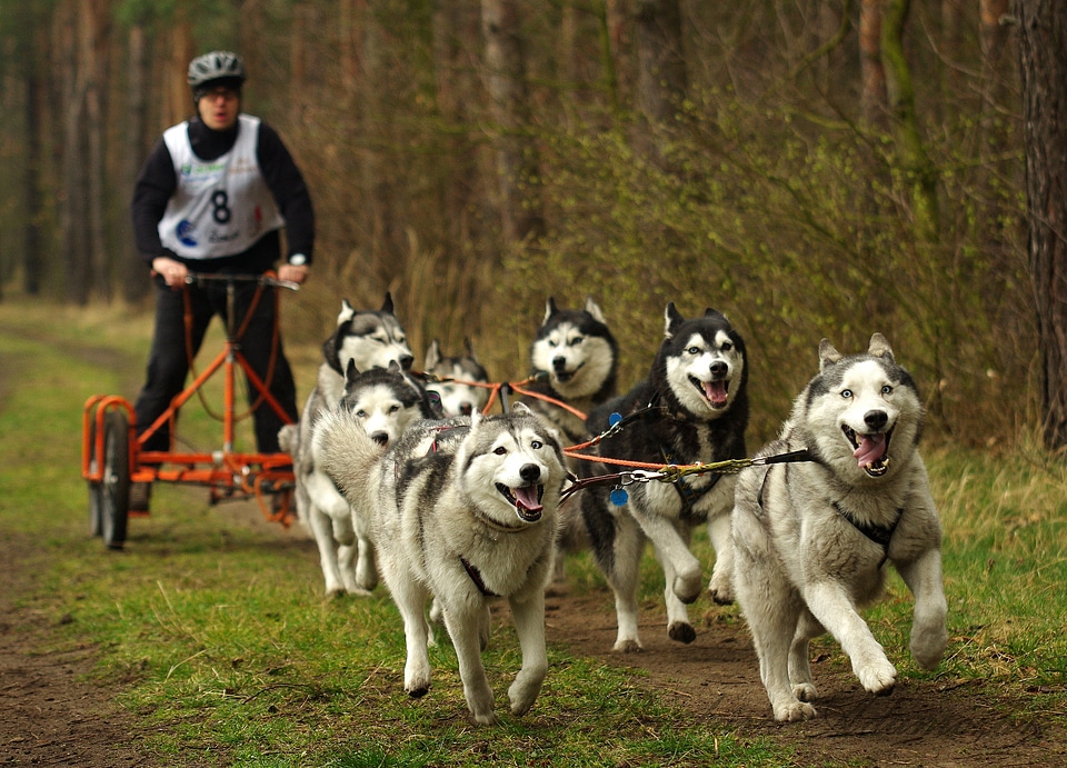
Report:
<svg viewBox="0 0 1067 768"><path fill-rule="evenodd" d="M566 470L556 433L516 403L505 416L420 421L382 455L350 413L316 427L316 452L352 509L370 517L382 577L403 618L403 688L427 692L432 596L456 648L467 707L496 722L481 662L489 601L507 598L522 651L508 691L513 715L530 709L548 661L545 587L552 570Z"/></svg>

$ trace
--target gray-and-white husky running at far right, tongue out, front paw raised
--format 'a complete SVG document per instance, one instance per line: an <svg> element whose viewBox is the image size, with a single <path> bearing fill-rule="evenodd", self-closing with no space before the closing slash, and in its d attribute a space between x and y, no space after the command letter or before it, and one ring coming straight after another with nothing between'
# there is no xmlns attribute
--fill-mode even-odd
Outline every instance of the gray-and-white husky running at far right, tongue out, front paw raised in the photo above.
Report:
<svg viewBox="0 0 1067 768"><path fill-rule="evenodd" d="M893 562L915 595L911 654L926 669L947 640L941 528L916 447L923 406L881 333L866 355L822 339L820 372L761 456L807 449L809 462L745 470L734 509L735 584L776 720L815 717L808 642L829 631L871 694L897 670L857 608Z"/></svg>

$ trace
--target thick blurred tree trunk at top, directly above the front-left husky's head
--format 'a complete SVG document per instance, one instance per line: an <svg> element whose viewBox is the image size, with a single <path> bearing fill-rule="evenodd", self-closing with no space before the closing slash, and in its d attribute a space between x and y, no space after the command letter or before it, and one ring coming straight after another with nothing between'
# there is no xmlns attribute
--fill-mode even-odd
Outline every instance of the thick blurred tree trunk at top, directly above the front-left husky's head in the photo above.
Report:
<svg viewBox="0 0 1067 768"><path fill-rule="evenodd" d="M517 0L481 0L481 29L486 41L486 80L496 130L500 213L505 239L538 239L545 230L540 201L532 187L537 149L526 136L529 99L526 59Z"/></svg>

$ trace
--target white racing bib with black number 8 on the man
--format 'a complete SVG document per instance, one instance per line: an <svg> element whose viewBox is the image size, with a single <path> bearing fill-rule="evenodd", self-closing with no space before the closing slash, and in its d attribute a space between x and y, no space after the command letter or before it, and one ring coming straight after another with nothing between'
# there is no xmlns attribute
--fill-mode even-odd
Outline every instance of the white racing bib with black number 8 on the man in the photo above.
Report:
<svg viewBox="0 0 1067 768"><path fill-rule="evenodd" d="M241 253L286 225L256 159L259 118L238 119L233 148L215 160L201 160L192 151L188 122L163 132L178 189L159 221L159 239L182 258Z"/></svg>

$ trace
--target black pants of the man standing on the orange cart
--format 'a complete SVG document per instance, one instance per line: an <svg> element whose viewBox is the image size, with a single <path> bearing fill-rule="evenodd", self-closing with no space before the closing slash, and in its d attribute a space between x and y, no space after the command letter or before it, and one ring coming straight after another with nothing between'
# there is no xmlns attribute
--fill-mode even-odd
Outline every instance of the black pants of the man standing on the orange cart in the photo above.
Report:
<svg viewBox="0 0 1067 768"><path fill-rule="evenodd" d="M206 286L186 286L189 292L189 307L192 315L191 349L193 356L200 350L203 335L211 323L211 318L219 316L223 322L227 319L227 288L223 281L211 281ZM241 328L248 308L258 287L252 282L235 283L235 332ZM286 360L279 336L277 352L275 353L273 372L268 381L271 347L275 341L275 315L277 312L275 291L265 287L256 305L252 317L243 336L238 340L240 352L248 360L252 370L260 380L269 385L270 393L278 400L282 409L292 420L297 418L297 388L292 379L292 370ZM148 373L144 387L137 398L134 410L137 413L138 433L152 426L159 416L167 410L170 401L186 387L189 375L189 356L186 343L185 323L185 291L176 291L157 280L156 290L156 331L152 337L152 349L148 358ZM259 391L248 382L248 397L252 402L259 400ZM253 415L256 426L256 443L260 452L278 452L278 430L285 421L278 417L273 408L261 401ZM164 423L143 445L142 450L170 450L170 435Z"/></svg>

